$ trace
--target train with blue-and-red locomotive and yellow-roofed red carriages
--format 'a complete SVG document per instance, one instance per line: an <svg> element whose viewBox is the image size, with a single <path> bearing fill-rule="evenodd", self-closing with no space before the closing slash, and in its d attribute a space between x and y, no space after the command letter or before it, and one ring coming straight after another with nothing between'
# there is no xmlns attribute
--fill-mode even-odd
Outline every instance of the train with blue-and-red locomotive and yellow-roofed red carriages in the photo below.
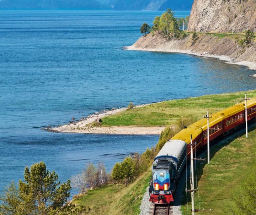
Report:
<svg viewBox="0 0 256 215"><path fill-rule="evenodd" d="M247 100L247 122L256 118L256 98ZM219 111L209 118L210 144L217 138L245 125L245 102ZM152 177L149 184L149 201L155 205L168 205L174 202L176 184L191 152L207 144L207 119L193 123L168 140L156 155L152 164Z"/></svg>

